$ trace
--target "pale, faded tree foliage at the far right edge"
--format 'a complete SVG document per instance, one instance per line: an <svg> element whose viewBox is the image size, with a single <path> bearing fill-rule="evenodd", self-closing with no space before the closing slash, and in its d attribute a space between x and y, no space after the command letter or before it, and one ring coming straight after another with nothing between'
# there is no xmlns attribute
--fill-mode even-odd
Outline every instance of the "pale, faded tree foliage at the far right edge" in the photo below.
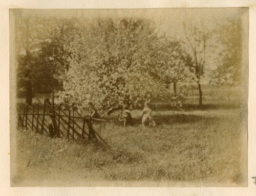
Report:
<svg viewBox="0 0 256 196"><path fill-rule="evenodd" d="M218 23L215 35L219 46L219 63L212 71L211 82L220 85L240 84L243 50L241 18L234 17Z"/></svg>

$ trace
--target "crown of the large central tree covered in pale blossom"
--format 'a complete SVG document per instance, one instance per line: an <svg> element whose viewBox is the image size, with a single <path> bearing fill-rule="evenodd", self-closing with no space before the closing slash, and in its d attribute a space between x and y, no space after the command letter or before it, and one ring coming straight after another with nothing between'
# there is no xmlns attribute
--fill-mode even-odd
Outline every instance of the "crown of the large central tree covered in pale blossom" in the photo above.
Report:
<svg viewBox="0 0 256 196"><path fill-rule="evenodd" d="M176 102L178 96L164 90L159 41L147 20L93 20L70 45L70 68L62 77L59 102L81 108L89 101L97 108L136 106L154 97Z"/></svg>

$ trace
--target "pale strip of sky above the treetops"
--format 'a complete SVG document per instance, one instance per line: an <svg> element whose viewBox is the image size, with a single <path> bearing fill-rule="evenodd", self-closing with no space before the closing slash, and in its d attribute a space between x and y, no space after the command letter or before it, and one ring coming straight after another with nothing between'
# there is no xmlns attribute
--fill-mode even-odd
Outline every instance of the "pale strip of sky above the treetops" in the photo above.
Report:
<svg viewBox="0 0 256 196"><path fill-rule="evenodd" d="M208 27L214 22L227 18L247 16L248 8L155 8L155 9L16 9L18 17L37 15L41 17L59 16L63 18L92 19L97 17L139 17L151 19L160 31L169 35L182 31L183 21L207 21Z"/></svg>

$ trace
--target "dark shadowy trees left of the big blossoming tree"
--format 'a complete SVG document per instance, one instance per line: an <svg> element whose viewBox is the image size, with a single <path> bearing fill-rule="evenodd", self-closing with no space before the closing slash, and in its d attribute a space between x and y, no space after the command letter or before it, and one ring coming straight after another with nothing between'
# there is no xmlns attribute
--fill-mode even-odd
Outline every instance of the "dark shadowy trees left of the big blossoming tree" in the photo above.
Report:
<svg viewBox="0 0 256 196"><path fill-rule="evenodd" d="M59 18L17 18L17 84L24 88L26 103L34 93L61 88L59 77L68 68L67 45L74 34L74 21Z"/></svg>

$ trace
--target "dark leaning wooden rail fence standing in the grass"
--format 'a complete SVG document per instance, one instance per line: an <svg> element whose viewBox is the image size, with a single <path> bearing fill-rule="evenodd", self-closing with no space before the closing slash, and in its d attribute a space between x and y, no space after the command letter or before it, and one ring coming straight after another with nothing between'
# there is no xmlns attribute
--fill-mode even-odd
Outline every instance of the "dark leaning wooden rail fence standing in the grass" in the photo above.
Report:
<svg viewBox="0 0 256 196"><path fill-rule="evenodd" d="M42 112L39 111L40 105L44 108ZM66 112L54 104L54 96L52 103L47 98L44 104L38 100L36 107L25 104L23 111L18 109L18 127L26 129L29 127L32 131L51 137L101 140L109 146L95 131L93 127L95 122L104 123L105 120L82 116L74 107Z"/></svg>

